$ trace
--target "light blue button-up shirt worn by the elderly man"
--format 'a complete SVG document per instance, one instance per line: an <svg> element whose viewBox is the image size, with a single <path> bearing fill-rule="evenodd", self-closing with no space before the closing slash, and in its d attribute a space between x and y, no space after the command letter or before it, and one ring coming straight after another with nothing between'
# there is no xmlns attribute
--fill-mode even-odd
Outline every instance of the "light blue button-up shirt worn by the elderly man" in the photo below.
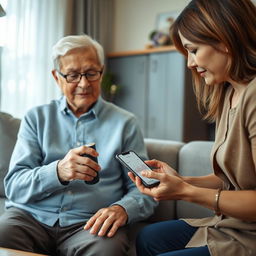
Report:
<svg viewBox="0 0 256 256"><path fill-rule="evenodd" d="M63 185L57 163L75 147L95 142L101 166L94 185L74 180ZM115 155L128 150L147 158L142 133L133 114L104 101L79 118L66 98L30 110L21 122L18 139L5 177L6 207L15 206L38 221L53 226L86 222L103 207L119 204L128 222L149 217L156 206L142 195Z"/></svg>

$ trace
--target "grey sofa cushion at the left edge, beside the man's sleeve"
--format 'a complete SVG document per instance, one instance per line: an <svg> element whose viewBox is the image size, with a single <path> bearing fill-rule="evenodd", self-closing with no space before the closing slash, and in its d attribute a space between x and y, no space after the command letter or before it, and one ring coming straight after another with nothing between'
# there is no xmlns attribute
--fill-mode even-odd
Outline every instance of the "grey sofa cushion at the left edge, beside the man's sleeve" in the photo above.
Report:
<svg viewBox="0 0 256 256"><path fill-rule="evenodd" d="M3 179L9 167L11 154L16 143L20 120L0 112L0 196L5 196Z"/></svg>

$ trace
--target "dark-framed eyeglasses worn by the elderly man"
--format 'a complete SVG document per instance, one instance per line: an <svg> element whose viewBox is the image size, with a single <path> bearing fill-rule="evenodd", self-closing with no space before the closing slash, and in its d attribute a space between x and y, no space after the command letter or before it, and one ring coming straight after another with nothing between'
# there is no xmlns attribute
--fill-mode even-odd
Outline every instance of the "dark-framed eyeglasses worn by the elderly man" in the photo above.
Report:
<svg viewBox="0 0 256 256"><path fill-rule="evenodd" d="M86 73L71 73L63 74L59 70L57 72L66 79L67 83L79 83L82 79L82 76L85 76L87 81L93 82L100 79L102 71L89 70Z"/></svg>

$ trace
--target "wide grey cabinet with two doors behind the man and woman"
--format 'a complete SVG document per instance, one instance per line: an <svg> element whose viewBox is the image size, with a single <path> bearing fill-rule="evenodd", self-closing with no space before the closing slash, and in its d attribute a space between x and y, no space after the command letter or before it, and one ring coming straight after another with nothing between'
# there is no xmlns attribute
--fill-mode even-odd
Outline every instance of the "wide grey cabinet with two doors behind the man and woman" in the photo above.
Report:
<svg viewBox="0 0 256 256"><path fill-rule="evenodd" d="M184 142L209 139L180 53L109 55L107 70L121 85L115 103L138 117L145 137Z"/></svg>

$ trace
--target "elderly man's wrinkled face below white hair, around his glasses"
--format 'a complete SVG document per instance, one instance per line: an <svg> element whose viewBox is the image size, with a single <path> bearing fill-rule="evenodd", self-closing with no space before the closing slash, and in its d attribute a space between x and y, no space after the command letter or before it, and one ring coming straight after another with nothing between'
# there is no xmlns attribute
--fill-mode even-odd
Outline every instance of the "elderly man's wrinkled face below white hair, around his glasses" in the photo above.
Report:
<svg viewBox="0 0 256 256"><path fill-rule="evenodd" d="M59 63L59 71L64 75L103 70L93 47L72 49L60 57ZM68 83L56 70L53 71L53 76L66 96L70 109L78 117L87 112L100 95L102 76L93 82L82 76L80 82L75 83Z"/></svg>

